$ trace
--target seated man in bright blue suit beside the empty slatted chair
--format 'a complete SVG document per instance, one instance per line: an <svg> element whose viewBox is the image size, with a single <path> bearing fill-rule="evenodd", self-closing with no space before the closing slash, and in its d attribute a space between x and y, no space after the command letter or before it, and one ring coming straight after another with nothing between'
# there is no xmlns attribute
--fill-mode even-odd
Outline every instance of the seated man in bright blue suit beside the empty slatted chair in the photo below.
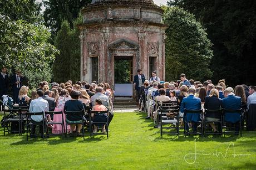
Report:
<svg viewBox="0 0 256 170"><path fill-rule="evenodd" d="M180 112L184 112L184 110L200 110L201 109L201 100L198 97L195 97L195 89L193 87L190 87L189 90L189 96L184 97L181 105L180 105ZM200 121L200 114L186 114L186 121L192 121L193 122L193 131L196 131L196 122ZM186 131L189 131L188 123L185 125Z"/></svg>

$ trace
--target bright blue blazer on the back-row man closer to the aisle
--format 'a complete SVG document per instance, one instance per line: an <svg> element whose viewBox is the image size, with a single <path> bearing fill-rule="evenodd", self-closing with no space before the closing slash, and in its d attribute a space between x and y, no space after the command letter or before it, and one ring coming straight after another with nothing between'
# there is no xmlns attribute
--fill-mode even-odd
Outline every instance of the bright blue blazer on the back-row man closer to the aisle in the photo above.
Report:
<svg viewBox="0 0 256 170"><path fill-rule="evenodd" d="M200 110L201 109L201 99L199 97L195 97L194 95L189 95L188 97L184 97L181 105L180 112L184 112L186 110ZM200 114L186 114L186 121L198 122L200 121Z"/></svg>

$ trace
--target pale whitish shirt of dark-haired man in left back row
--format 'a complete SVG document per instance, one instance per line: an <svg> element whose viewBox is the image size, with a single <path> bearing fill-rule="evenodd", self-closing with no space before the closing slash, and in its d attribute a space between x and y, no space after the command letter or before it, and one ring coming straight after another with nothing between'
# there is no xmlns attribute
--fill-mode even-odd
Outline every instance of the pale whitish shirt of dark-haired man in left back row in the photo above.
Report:
<svg viewBox="0 0 256 170"><path fill-rule="evenodd" d="M35 113L35 112L45 112L49 111L49 105L48 101L43 99L42 97L38 97L37 99L34 99L31 101L29 106L29 112ZM36 122L41 122L43 120L42 115L32 115L31 119Z"/></svg>

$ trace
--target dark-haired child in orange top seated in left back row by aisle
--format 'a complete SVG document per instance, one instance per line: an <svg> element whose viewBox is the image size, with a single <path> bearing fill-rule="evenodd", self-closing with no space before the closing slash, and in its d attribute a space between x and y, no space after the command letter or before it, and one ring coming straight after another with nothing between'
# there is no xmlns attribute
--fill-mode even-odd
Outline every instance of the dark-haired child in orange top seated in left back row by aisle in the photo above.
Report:
<svg viewBox="0 0 256 170"><path fill-rule="evenodd" d="M92 107L92 111L106 111L107 108L106 106L102 105L102 100L101 99L96 99L95 100L95 106ZM94 123L94 122L106 122L107 121L107 114L104 115L99 115L99 114L92 114L93 117L93 133L97 133L97 127L101 126L102 127L102 133L106 132L106 124L104 123Z"/></svg>

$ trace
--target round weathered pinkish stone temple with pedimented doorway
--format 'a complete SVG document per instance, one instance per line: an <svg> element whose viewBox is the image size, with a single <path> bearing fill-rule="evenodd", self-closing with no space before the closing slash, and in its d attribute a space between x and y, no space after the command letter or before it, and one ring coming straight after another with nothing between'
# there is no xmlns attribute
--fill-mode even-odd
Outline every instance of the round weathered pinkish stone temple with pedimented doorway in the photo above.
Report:
<svg viewBox="0 0 256 170"><path fill-rule="evenodd" d="M92 0L81 12L81 80L114 87L116 79L131 83L137 69L165 80L166 25L152 0Z"/></svg>

